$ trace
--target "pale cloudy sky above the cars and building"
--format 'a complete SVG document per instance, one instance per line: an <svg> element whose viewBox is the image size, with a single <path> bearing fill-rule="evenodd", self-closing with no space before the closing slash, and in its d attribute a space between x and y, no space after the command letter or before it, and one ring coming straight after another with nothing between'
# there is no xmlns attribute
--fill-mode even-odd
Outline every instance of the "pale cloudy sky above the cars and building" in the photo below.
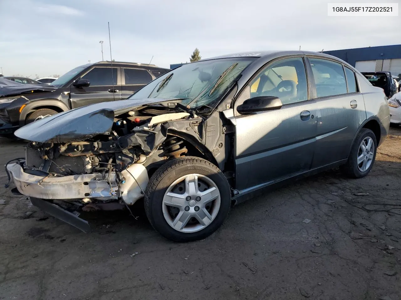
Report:
<svg viewBox="0 0 401 300"><path fill-rule="evenodd" d="M400 16L329 17L328 2L0 0L0 67L4 76L62 75L101 61L100 40L104 60L110 60L107 22L115 61L149 63L153 56L152 64L164 68L189 62L195 48L208 58L300 46L321 51L401 44Z"/></svg>

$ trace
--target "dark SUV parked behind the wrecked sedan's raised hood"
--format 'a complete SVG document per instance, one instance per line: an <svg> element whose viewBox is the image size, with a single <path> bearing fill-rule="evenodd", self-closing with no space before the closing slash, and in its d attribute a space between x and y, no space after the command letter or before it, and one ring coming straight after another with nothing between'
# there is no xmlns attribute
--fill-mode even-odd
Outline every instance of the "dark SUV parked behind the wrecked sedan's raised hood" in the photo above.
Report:
<svg viewBox="0 0 401 300"><path fill-rule="evenodd" d="M97 62L79 66L52 85L0 88L0 136L13 137L21 126L97 102L122 100L169 69L131 62Z"/></svg>

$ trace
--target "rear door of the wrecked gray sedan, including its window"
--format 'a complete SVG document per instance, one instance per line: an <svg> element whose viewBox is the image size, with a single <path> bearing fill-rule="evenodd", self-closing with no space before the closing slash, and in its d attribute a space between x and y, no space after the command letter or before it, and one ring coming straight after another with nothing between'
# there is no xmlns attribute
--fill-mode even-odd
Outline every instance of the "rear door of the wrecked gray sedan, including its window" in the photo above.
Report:
<svg viewBox="0 0 401 300"><path fill-rule="evenodd" d="M321 57L309 57L309 62L309 78L318 105L313 169L348 157L354 136L366 120L366 111L350 68Z"/></svg>

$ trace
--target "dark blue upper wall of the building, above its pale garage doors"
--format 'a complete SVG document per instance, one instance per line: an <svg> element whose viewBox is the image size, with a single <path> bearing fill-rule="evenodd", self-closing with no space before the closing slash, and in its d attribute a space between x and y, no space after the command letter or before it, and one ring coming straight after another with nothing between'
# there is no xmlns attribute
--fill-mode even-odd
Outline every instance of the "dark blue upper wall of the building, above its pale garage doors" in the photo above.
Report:
<svg viewBox="0 0 401 300"><path fill-rule="evenodd" d="M351 66L360 60L387 60L401 58L401 45L377 46L344 50L323 51L323 53L336 56Z"/></svg>

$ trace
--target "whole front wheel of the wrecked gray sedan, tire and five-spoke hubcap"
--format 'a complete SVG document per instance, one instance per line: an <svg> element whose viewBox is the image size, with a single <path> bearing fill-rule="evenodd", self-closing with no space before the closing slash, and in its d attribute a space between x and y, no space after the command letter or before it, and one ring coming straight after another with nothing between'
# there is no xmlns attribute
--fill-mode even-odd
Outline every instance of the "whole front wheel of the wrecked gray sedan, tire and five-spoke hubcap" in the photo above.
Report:
<svg viewBox="0 0 401 300"><path fill-rule="evenodd" d="M145 192L145 211L153 228L175 242L202 240L225 221L231 190L211 162L186 156L161 166Z"/></svg>

